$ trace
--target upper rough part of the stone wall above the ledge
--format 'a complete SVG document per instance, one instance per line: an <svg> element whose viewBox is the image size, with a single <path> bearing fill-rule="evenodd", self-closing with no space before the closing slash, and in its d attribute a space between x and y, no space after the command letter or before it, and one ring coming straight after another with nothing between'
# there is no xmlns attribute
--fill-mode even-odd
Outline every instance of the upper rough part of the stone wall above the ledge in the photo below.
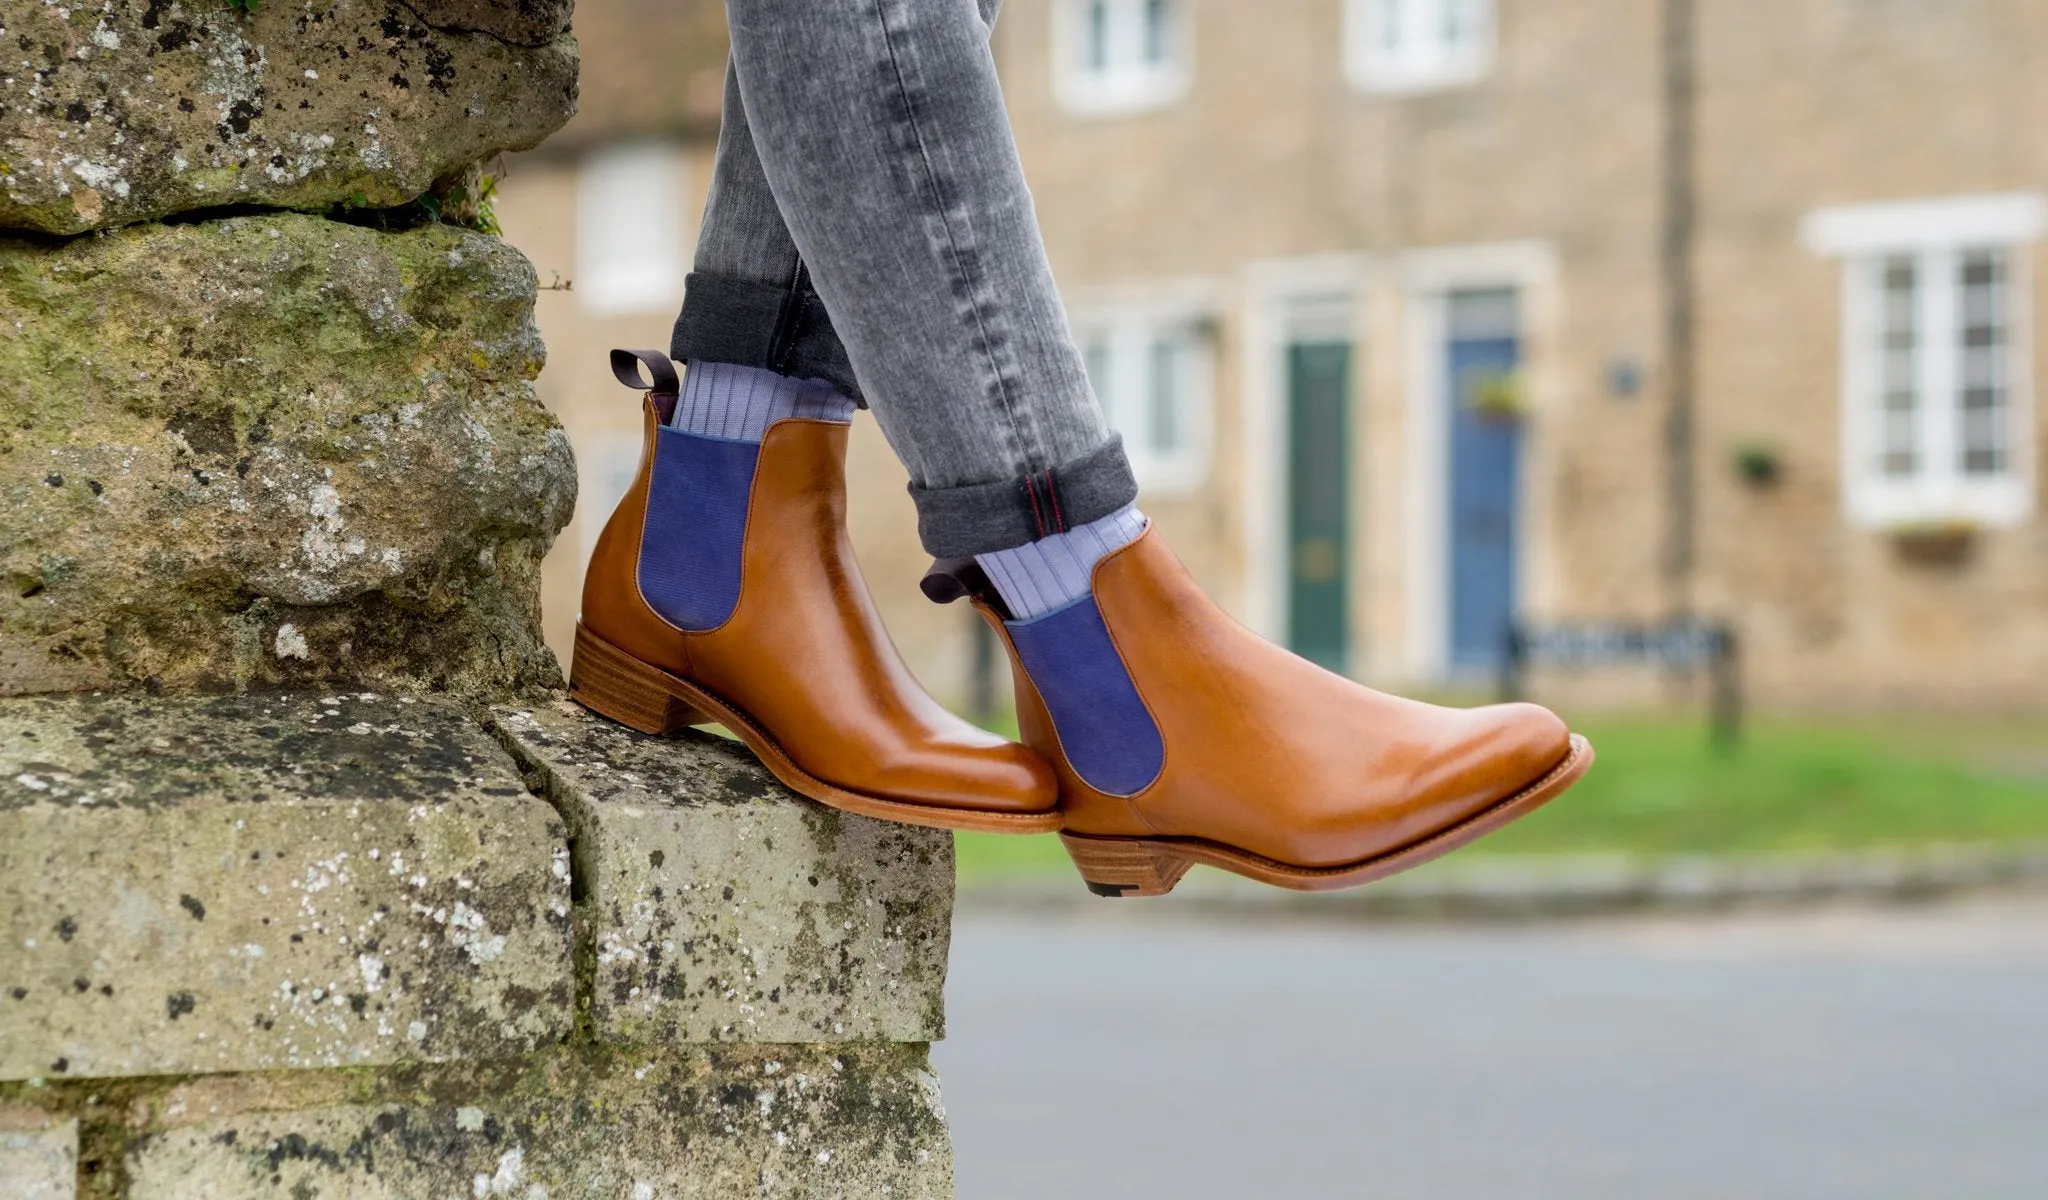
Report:
<svg viewBox="0 0 2048 1200"><path fill-rule="evenodd" d="M567 4L246 8L0 16L0 694L545 686L532 268L434 217L573 113Z"/></svg>

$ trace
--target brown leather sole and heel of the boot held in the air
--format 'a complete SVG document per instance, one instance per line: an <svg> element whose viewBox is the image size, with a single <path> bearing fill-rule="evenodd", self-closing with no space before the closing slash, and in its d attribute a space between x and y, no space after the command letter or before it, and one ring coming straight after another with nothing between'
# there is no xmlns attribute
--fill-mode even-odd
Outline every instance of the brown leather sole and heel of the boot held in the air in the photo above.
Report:
<svg viewBox="0 0 2048 1200"><path fill-rule="evenodd" d="M1589 766L1593 766L1593 743L1573 733L1571 752L1565 760L1505 801L1473 813L1448 829L1438 829L1419 842L1343 866L1288 866L1286 862L1274 862L1247 850L1198 838L1090 838L1085 833L1061 833L1059 840L1081 870L1087 891L1104 897L1165 895L1174 891L1180 876L1188 874L1188 868L1196 862L1290 891L1337 891L1399 874L1485 838L1556 799L1559 792L1579 782L1579 776Z"/></svg>

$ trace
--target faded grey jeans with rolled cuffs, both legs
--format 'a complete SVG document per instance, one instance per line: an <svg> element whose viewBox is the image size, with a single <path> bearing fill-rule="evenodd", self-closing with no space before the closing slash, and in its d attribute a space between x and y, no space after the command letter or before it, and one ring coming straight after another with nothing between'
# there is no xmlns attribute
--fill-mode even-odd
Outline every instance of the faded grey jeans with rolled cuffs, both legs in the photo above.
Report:
<svg viewBox="0 0 2048 1200"><path fill-rule="evenodd" d="M827 379L940 557L1137 498L995 82L1001 0L727 0L725 125L672 352Z"/></svg>

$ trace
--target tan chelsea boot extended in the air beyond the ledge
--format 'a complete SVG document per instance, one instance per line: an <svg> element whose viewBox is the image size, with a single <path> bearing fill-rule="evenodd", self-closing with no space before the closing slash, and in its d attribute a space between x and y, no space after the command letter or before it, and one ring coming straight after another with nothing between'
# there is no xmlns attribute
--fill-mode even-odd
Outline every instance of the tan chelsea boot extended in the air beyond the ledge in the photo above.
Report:
<svg viewBox="0 0 2048 1200"><path fill-rule="evenodd" d="M1006 620L1018 727L1061 780L1061 842L1098 895L1161 895L1196 862L1325 891L1407 870L1554 799L1593 747L1546 709L1444 709L1374 692L1243 629L1157 530L1106 555L1094 594Z"/></svg>

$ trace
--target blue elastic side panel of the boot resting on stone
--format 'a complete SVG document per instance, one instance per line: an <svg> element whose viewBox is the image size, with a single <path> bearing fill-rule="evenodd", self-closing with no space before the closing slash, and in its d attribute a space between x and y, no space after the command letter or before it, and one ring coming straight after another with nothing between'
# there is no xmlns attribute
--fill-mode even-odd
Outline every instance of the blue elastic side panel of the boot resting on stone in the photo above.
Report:
<svg viewBox="0 0 2048 1200"><path fill-rule="evenodd" d="M676 629L717 629L739 604L739 555L760 446L670 428L653 436L641 596Z"/></svg>

